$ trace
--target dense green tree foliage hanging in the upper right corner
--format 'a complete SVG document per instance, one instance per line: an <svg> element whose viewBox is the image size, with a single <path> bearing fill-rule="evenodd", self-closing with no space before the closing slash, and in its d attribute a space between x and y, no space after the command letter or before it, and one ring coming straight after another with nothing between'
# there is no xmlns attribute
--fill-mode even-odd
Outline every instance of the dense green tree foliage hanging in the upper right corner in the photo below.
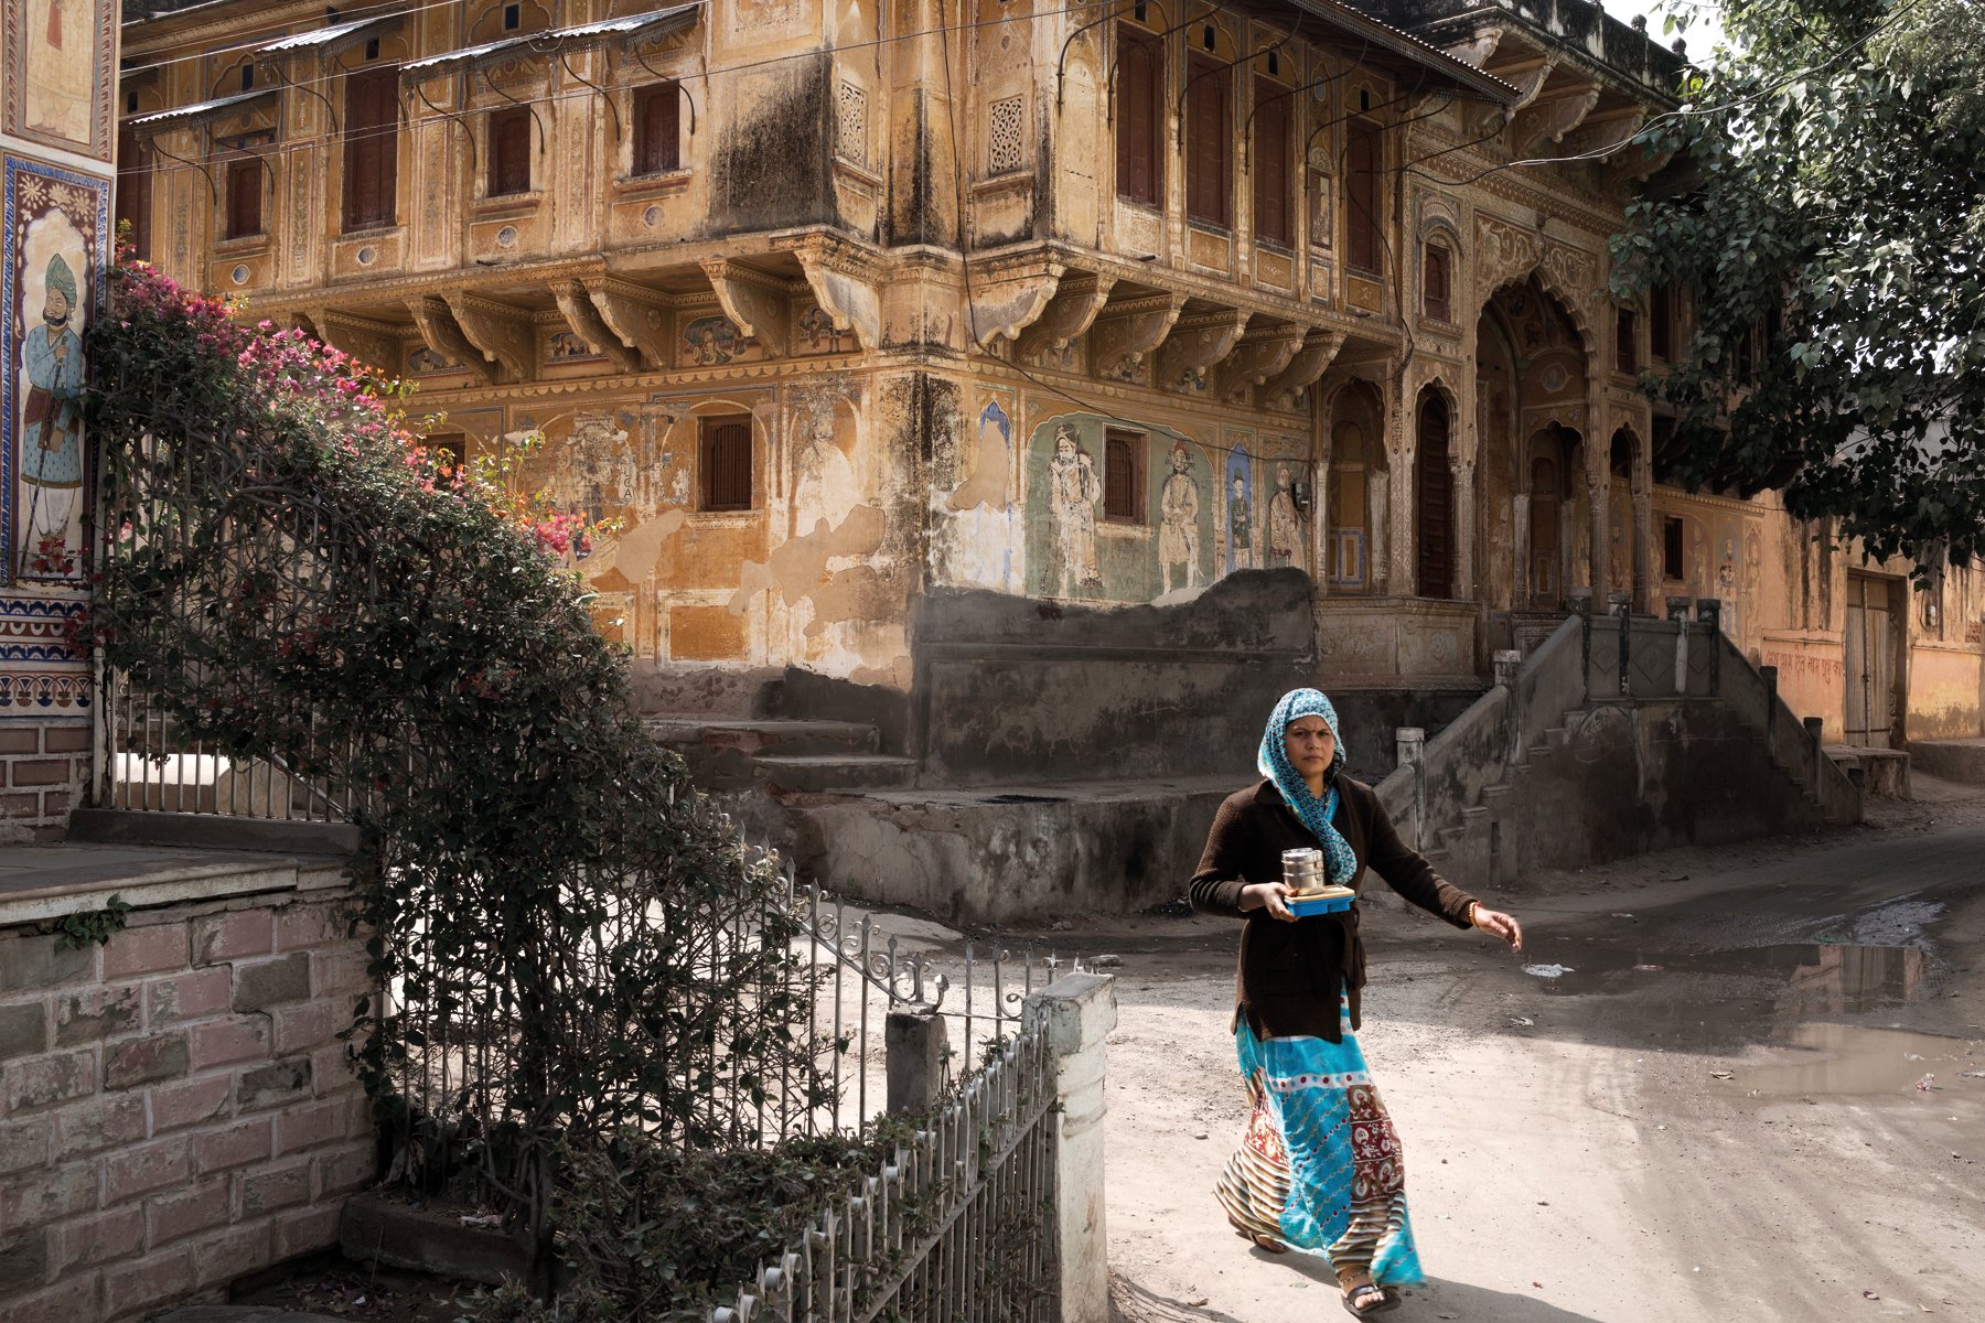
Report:
<svg viewBox="0 0 1985 1323"><path fill-rule="evenodd" d="M1689 486L1783 486L1874 555L1985 549L1985 4L1727 0L1648 141L1622 294L1687 290L1648 389Z"/></svg>

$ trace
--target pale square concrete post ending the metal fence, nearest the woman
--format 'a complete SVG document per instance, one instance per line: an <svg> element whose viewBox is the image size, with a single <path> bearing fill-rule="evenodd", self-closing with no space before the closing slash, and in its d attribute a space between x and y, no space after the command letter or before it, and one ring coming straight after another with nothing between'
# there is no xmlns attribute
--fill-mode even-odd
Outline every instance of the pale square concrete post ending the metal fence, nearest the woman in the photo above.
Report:
<svg viewBox="0 0 1985 1323"><path fill-rule="evenodd" d="M1116 1027L1116 980L1066 974L1026 1000L1054 1051L1054 1226L1060 1323L1110 1323L1110 1228L1104 1222L1104 1041Z"/></svg>

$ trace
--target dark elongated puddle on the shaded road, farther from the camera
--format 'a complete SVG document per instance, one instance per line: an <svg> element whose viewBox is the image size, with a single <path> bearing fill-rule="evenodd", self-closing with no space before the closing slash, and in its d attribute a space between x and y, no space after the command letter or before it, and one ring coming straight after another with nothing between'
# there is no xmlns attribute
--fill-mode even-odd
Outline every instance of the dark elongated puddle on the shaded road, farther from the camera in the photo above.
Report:
<svg viewBox="0 0 1985 1323"><path fill-rule="evenodd" d="M1544 990L1558 996L1618 996L1661 990L1675 976L1759 978L1779 984L1771 994L1781 1012L1852 1016L1918 1000L1929 958L1916 946L1850 946L1842 942L1790 942L1735 950L1634 952L1588 946L1570 952L1568 966L1544 976Z"/></svg>

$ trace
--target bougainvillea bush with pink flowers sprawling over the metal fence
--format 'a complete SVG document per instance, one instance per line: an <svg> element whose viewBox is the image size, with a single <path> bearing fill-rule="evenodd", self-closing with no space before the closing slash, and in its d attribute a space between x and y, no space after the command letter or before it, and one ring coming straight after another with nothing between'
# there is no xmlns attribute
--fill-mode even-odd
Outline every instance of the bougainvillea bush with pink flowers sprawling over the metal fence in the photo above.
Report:
<svg viewBox="0 0 1985 1323"><path fill-rule="evenodd" d="M472 1154L548 1246L578 1148L748 1144L768 1091L812 1101L782 883L633 718L570 569L588 530L449 472L393 383L147 266L87 351L85 641L177 748L361 829L393 996L351 1041L399 1168Z"/></svg>

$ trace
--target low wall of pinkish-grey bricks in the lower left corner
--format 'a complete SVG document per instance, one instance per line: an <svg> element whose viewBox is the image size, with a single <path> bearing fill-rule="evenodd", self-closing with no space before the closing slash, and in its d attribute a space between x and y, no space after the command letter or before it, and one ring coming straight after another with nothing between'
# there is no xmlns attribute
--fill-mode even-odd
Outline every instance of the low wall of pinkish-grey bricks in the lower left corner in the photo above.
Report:
<svg viewBox="0 0 1985 1323"><path fill-rule="evenodd" d="M341 904L167 904L67 952L0 926L0 1317L131 1319L337 1244L375 1166Z"/></svg>

